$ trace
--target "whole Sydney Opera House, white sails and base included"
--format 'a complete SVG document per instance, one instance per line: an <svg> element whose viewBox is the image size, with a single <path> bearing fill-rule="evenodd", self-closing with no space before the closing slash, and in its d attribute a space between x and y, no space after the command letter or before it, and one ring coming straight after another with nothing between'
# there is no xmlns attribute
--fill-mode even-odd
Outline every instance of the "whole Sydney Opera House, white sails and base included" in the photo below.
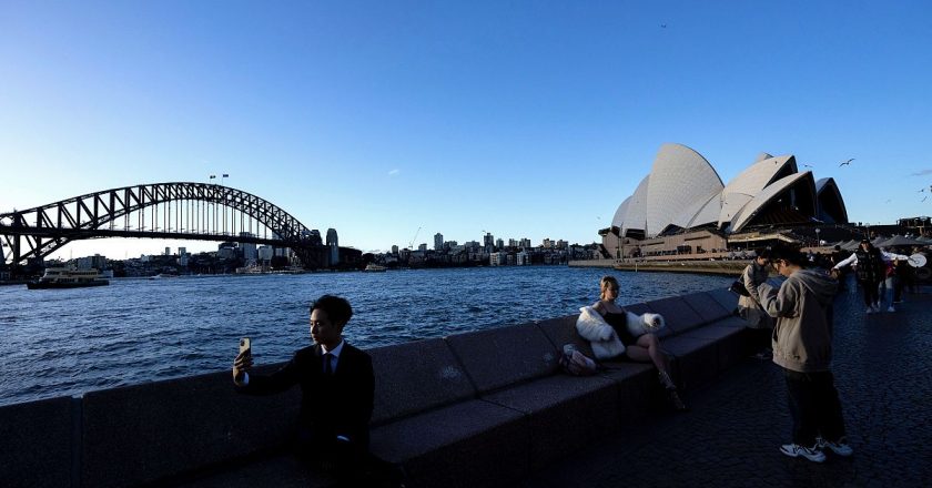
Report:
<svg viewBox="0 0 932 488"><path fill-rule="evenodd" d="M791 238L780 230L847 223L834 180L800 172L792 155L761 153L726 185L698 152L663 144L599 234L607 257L629 257L752 247Z"/></svg>

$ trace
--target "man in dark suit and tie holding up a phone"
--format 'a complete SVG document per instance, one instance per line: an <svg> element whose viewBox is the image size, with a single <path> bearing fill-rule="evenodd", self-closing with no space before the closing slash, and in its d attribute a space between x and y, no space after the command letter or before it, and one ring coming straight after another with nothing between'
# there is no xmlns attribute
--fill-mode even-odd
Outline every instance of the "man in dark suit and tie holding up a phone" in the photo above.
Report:
<svg viewBox="0 0 932 488"><path fill-rule="evenodd" d="M372 358L343 339L343 327L352 316L346 299L324 295L311 305L314 345L297 350L269 376L249 374L250 349L233 363L233 383L240 393L271 395L301 386L297 454L335 468L341 479L352 478L371 464L368 423L375 378Z"/></svg>

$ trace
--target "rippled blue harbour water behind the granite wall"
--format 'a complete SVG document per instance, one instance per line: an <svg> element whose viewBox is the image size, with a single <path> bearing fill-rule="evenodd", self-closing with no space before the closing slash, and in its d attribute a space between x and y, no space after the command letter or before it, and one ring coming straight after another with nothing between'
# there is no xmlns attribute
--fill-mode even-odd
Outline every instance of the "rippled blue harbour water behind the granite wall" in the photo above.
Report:
<svg viewBox="0 0 932 488"><path fill-rule="evenodd" d="M256 364L310 344L307 306L350 299L347 339L362 348L547 319L598 299L618 277L620 304L723 287L727 276L566 266L386 273L112 279L110 286L0 287L0 405L226 370L239 338Z"/></svg>

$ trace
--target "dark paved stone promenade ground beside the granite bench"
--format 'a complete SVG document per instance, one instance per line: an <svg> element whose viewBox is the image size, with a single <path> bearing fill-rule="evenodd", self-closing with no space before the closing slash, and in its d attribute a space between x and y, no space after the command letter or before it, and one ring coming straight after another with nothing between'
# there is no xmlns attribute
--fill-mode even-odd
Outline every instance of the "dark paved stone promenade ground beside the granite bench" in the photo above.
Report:
<svg viewBox="0 0 932 488"><path fill-rule="evenodd" d="M748 358L661 414L526 479L520 487L932 486L932 288L865 315L860 289L835 299L835 385L854 456L818 465L790 439L781 370Z"/></svg>

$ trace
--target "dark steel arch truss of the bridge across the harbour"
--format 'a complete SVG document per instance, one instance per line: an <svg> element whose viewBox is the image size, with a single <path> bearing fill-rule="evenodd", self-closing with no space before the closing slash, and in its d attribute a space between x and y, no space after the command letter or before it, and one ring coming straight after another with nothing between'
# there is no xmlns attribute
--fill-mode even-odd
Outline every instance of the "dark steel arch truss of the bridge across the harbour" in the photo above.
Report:
<svg viewBox="0 0 932 488"><path fill-rule="evenodd" d="M189 203L186 215L179 215L179 212L185 212L178 209L172 215L170 204L179 202ZM227 220L224 210L224 217L221 220L219 213L221 207L240 212L241 221L245 216L251 217L257 225L261 224L272 231L276 237L233 235L235 234L235 212L230 212L231 218ZM160 209L163 211L162 216L159 216ZM150 210L148 221L146 210ZM133 221L130 216L133 213L136 214L136 228L130 225ZM191 222L192 218L195 222ZM121 220L122 225L118 225ZM185 228L171 227L173 222L184 223L185 221L188 222ZM227 222L234 232L225 232ZM152 223L154 228L146 231L146 223ZM165 227L160 228L160 223L164 223ZM221 224L224 232L220 230ZM186 227L191 227L190 232ZM194 232L194 227L197 227L200 232ZM124 186L89 193L34 209L0 214L0 244L3 247L3 258L8 261L9 256L9 261L14 265L30 258L44 258L77 240L151 237L240 241L290 247L305 267L316 268L322 265L322 243L311 240L310 235L304 224L273 203L241 190L207 183L178 182Z"/></svg>

